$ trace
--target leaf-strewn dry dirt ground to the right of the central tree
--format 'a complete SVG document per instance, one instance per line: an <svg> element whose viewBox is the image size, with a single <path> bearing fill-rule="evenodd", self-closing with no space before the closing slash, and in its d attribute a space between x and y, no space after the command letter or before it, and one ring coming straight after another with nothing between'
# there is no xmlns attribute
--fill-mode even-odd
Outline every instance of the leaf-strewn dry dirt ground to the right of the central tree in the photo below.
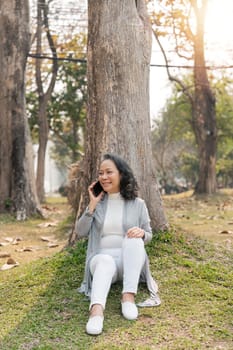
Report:
<svg viewBox="0 0 233 350"><path fill-rule="evenodd" d="M192 191L164 196L170 224L177 230L233 248L233 189L195 198Z"/></svg>

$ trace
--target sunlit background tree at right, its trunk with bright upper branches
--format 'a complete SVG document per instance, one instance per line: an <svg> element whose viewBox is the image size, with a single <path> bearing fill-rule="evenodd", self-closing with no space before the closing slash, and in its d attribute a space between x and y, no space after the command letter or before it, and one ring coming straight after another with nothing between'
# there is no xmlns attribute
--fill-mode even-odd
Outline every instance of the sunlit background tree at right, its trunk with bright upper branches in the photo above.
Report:
<svg viewBox="0 0 233 350"><path fill-rule="evenodd" d="M180 85L189 98L192 127L199 155L196 193L216 192L217 128L215 96L210 86L204 47L204 26L208 0L163 0L161 10L152 15L153 32L164 54L168 77ZM172 75L162 38L172 32L178 57L193 62L193 83L187 85ZM171 35L169 36L171 37Z"/></svg>

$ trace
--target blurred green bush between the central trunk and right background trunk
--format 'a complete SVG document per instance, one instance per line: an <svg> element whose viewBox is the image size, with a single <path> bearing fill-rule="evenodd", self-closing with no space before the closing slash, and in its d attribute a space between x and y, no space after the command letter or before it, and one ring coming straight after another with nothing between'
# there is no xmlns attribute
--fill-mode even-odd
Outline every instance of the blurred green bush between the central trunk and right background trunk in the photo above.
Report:
<svg viewBox="0 0 233 350"><path fill-rule="evenodd" d="M177 88L173 89L172 96L167 100L160 117L154 121L153 157L160 184L166 193L181 191L187 187L188 183L194 185L197 180L193 162L189 164L193 157L197 163L190 115L187 97ZM189 165L192 168L191 171L189 171Z"/></svg>

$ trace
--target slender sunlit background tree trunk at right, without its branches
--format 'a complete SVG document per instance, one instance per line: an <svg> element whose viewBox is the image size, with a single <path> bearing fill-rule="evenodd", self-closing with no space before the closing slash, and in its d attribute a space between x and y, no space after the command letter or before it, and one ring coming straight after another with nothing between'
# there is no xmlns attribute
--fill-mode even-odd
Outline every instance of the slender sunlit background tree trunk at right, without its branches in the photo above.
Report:
<svg viewBox="0 0 233 350"><path fill-rule="evenodd" d="M211 90L204 57L204 18L207 0L202 7L196 5L197 34L194 40L193 127L199 152L199 175L195 193L216 192L217 128L215 97Z"/></svg>

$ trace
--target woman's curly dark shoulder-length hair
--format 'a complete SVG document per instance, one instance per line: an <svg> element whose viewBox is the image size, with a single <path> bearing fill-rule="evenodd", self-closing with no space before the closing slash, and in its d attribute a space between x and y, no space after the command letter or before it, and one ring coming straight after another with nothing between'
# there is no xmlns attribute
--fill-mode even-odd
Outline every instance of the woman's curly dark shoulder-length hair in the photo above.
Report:
<svg viewBox="0 0 233 350"><path fill-rule="evenodd" d="M117 167L120 179L120 193L124 199L132 200L138 196L138 184L133 171L124 159L113 153L106 153L102 161L111 160Z"/></svg>

